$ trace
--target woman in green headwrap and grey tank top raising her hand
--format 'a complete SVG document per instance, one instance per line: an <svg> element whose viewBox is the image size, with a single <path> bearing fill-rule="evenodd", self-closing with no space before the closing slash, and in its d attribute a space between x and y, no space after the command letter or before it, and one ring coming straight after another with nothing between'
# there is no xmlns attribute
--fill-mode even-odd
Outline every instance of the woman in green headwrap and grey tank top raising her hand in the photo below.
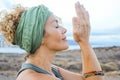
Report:
<svg viewBox="0 0 120 80"><path fill-rule="evenodd" d="M103 71L89 43L88 12L79 2L75 3L75 9L77 17L72 19L73 36L82 51L82 74L51 64L57 51L68 48L67 30L59 25L56 16L47 7L40 5L22 11L17 9L19 14L13 19L14 28L13 31L10 28L10 37L2 25L5 37L28 52L17 80L103 80Z"/></svg>

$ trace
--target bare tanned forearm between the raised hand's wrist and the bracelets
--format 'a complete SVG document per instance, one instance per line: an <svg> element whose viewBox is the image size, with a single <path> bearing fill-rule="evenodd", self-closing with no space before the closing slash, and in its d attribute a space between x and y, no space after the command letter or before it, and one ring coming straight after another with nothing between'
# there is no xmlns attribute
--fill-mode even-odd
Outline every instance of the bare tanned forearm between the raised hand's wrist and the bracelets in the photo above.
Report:
<svg viewBox="0 0 120 80"><path fill-rule="evenodd" d="M90 43L79 43L82 51L83 73L101 71L100 63Z"/></svg>

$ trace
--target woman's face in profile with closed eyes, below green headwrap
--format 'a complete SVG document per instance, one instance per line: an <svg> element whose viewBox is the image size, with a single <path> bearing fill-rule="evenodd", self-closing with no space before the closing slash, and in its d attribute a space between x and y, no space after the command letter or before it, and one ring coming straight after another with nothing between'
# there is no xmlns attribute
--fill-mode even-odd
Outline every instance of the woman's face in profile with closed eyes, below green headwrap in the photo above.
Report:
<svg viewBox="0 0 120 80"><path fill-rule="evenodd" d="M51 50L65 50L68 48L66 29L59 25L55 15L51 15L45 24L44 44Z"/></svg>

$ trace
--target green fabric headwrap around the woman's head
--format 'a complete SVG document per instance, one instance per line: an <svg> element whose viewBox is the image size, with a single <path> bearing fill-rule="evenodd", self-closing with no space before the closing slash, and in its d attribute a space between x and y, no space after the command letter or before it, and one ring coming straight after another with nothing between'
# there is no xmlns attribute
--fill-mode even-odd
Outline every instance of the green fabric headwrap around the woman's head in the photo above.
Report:
<svg viewBox="0 0 120 80"><path fill-rule="evenodd" d="M34 53L41 44L44 26L51 14L44 5L24 11L15 32L15 44L28 53Z"/></svg>

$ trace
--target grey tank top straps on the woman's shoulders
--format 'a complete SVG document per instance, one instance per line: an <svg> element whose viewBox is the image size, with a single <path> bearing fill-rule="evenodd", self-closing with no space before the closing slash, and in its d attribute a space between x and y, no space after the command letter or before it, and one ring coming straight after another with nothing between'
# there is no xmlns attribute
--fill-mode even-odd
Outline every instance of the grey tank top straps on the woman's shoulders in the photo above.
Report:
<svg viewBox="0 0 120 80"><path fill-rule="evenodd" d="M33 65L33 64L23 63L22 66L21 66L21 69L19 70L19 72L18 72L18 74L17 74L17 76L18 76L22 71L24 71L24 70L26 70L26 69L32 69L32 70L34 70L34 71L36 71L36 72L38 72L38 73L43 73L43 74L49 74L49 75L51 75L49 72L47 72L47 71L45 71L45 70L43 70L43 69L41 69L41 68L39 68L39 67L37 67L37 66L35 66L35 65ZM63 80L61 74L59 73L59 71L58 71L57 69L55 69L55 68L52 67L52 72L55 74L55 76L56 76L57 78L59 78L58 80Z"/></svg>

